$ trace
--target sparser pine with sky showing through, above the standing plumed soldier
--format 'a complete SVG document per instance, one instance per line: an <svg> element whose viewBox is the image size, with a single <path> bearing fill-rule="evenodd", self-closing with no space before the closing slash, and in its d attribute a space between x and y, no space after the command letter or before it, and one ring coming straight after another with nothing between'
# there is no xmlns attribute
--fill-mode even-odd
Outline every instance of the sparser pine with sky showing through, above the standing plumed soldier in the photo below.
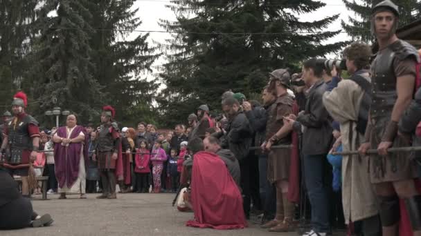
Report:
<svg viewBox="0 0 421 236"><path fill-rule="evenodd" d="M159 55L147 43L149 34L129 41L132 30L141 25L132 9L132 0L91 0L89 24L95 30L89 45L95 64L93 77L104 86L106 100L116 108L117 120L135 125L140 120L153 122L152 101L157 85L145 78ZM137 32L134 32L137 34Z"/></svg>

